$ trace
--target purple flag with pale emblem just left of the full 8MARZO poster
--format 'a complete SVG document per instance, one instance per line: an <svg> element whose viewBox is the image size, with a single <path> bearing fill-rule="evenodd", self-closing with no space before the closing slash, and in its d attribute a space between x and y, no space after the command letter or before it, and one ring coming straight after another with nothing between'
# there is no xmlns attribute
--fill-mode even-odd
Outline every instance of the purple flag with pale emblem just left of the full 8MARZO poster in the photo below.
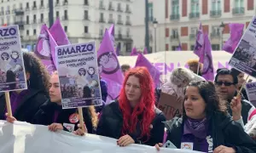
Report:
<svg viewBox="0 0 256 153"><path fill-rule="evenodd" d="M49 33L48 27L46 25L43 25L41 27L40 35L38 37L35 54L38 56L39 59L42 60L49 73L56 70L55 62L53 60L55 59L55 54L54 57L51 54L53 50L55 52L56 46L57 44Z"/></svg>

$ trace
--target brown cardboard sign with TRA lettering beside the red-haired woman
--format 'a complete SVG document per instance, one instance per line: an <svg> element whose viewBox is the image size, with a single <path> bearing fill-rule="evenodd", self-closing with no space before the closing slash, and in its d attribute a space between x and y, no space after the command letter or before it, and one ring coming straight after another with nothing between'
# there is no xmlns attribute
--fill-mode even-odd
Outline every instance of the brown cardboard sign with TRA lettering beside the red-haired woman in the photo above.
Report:
<svg viewBox="0 0 256 153"><path fill-rule="evenodd" d="M171 94L160 94L158 108L166 115L166 121L172 120L175 116L182 115L183 99Z"/></svg>

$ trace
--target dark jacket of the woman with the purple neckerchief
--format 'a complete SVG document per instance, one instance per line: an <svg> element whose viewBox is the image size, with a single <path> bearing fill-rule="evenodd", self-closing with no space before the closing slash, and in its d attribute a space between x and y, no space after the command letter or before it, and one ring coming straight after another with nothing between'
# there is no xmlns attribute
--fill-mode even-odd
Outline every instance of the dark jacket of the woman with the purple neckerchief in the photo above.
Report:
<svg viewBox="0 0 256 153"><path fill-rule="evenodd" d="M183 125L183 118L178 117L166 122L166 140L170 140L177 148L181 148ZM224 145L234 147L236 153L256 152L256 143L244 132L239 123L231 119L230 115L226 116L222 112L215 112L209 119L209 126L212 129L213 150L219 145Z"/></svg>

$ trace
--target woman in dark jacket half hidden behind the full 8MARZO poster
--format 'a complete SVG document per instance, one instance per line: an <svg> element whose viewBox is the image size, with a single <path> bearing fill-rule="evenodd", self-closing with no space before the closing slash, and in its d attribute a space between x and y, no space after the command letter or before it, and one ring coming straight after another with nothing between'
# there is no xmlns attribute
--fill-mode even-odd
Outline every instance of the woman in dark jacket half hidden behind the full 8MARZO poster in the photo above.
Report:
<svg viewBox="0 0 256 153"><path fill-rule="evenodd" d="M49 100L41 106L33 119L34 124L49 125L50 131L65 130L67 132L84 135L93 133L97 125L96 111L93 106L83 109L86 131L79 129L79 114L77 109L65 109L61 107L61 88L57 71L55 71L49 83Z"/></svg>

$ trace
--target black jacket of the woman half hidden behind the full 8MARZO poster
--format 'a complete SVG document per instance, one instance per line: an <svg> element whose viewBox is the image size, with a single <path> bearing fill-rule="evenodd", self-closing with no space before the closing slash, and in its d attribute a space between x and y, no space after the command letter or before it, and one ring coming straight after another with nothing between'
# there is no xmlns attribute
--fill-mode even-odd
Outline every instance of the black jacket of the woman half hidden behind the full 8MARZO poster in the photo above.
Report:
<svg viewBox="0 0 256 153"><path fill-rule="evenodd" d="M79 118L77 122L72 122L70 117L75 114L79 114L77 109L63 109L61 105L50 102L47 100L44 105L40 107L40 110L34 116L32 123L48 126L54 123L55 111L59 111L59 115L56 118L56 123L61 123L65 131L73 132L78 129ZM84 123L87 127L88 133L93 133L93 126L91 122L91 116L88 108L83 108ZM68 128L73 127L73 128Z"/></svg>

